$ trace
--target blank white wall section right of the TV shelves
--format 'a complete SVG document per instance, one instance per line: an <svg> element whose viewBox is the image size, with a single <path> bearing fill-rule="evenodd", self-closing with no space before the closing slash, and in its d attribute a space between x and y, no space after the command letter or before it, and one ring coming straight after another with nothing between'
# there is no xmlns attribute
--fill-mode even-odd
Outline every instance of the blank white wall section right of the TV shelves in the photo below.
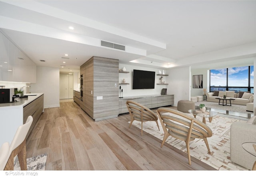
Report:
<svg viewBox="0 0 256 176"><path fill-rule="evenodd" d="M174 106L177 106L179 100L190 100L190 67L170 68L167 71L167 94L174 94Z"/></svg>

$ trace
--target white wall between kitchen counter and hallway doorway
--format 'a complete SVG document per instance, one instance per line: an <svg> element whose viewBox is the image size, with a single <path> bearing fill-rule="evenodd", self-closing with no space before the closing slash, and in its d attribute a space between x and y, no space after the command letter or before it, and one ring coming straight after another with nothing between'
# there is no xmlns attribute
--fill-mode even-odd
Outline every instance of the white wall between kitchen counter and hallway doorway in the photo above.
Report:
<svg viewBox="0 0 256 176"><path fill-rule="evenodd" d="M60 69L36 67L36 83L31 83L31 92L44 93L44 108L60 106Z"/></svg>

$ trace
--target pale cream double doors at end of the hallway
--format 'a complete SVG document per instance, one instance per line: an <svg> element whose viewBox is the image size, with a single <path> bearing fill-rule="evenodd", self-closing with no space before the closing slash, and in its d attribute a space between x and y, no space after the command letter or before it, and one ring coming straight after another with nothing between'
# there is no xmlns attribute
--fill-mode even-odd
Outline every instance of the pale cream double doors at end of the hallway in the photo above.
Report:
<svg viewBox="0 0 256 176"><path fill-rule="evenodd" d="M60 100L73 98L73 74L60 74Z"/></svg>

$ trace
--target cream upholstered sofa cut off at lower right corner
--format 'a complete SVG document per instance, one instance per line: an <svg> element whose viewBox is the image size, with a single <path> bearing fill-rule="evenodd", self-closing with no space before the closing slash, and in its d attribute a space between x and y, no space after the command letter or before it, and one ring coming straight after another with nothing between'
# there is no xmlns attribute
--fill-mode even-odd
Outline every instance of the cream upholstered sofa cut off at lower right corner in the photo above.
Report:
<svg viewBox="0 0 256 176"><path fill-rule="evenodd" d="M255 112L255 110L254 110ZM230 126L230 160L244 168L252 170L256 156L249 154L242 144L247 142L256 143L256 116L248 122L234 122ZM249 144L249 145L250 145ZM253 150L253 147L251 146Z"/></svg>

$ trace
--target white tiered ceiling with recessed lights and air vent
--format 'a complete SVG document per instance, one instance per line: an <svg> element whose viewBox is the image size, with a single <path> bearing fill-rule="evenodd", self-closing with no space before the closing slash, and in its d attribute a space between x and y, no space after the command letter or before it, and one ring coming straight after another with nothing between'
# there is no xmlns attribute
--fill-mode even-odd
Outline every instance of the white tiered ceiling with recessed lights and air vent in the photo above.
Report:
<svg viewBox="0 0 256 176"><path fill-rule="evenodd" d="M256 57L256 1L8 0L0 30L36 65L61 72L92 56L155 68L244 66Z"/></svg>

